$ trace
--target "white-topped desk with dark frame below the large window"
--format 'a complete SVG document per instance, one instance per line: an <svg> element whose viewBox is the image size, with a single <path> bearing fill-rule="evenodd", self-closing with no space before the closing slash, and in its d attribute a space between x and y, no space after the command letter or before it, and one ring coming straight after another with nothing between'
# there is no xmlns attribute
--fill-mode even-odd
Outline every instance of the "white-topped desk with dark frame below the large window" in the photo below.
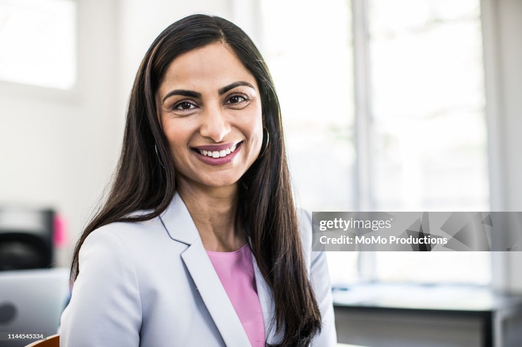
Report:
<svg viewBox="0 0 522 347"><path fill-rule="evenodd" d="M477 319L481 330L477 339L486 347L511 345L510 341L518 337L505 336L505 322L522 324L522 320L517 321L522 317L522 295L498 294L473 286L356 284L346 290L334 290L334 307L337 316L364 312L384 313L387 317L424 315Z"/></svg>

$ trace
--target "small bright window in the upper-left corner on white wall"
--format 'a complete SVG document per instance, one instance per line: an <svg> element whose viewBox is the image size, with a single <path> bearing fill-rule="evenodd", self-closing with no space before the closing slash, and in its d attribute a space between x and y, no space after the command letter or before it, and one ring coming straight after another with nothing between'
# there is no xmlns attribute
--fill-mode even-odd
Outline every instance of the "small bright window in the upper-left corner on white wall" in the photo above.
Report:
<svg viewBox="0 0 522 347"><path fill-rule="evenodd" d="M70 89L76 82L76 3L0 0L0 80Z"/></svg>

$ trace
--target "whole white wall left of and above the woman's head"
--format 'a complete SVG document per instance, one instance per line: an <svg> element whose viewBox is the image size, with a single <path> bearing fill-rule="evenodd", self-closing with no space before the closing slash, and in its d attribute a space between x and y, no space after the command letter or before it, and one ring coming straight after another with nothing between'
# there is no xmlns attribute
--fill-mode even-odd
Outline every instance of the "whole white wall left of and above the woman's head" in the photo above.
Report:
<svg viewBox="0 0 522 347"><path fill-rule="evenodd" d="M230 18L229 0L77 0L78 83L55 91L0 82L0 204L54 207L74 242L116 165L129 91L147 48L192 13Z"/></svg>

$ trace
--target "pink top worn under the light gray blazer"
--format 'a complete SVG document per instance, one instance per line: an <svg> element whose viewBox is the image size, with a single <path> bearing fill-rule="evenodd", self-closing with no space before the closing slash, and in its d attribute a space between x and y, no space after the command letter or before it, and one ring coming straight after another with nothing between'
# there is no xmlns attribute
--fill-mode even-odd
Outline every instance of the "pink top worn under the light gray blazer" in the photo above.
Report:
<svg viewBox="0 0 522 347"><path fill-rule="evenodd" d="M252 252L245 244L234 252L207 251L252 347L265 346L265 321L257 296Z"/></svg>

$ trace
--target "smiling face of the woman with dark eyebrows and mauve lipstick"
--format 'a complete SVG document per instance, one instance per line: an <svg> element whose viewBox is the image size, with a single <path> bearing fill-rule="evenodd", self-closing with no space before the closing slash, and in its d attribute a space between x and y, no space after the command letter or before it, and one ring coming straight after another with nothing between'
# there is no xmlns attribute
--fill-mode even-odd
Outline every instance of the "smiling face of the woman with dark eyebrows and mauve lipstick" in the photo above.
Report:
<svg viewBox="0 0 522 347"><path fill-rule="evenodd" d="M176 175L189 184L236 183L263 142L254 76L221 42L175 58L156 95Z"/></svg>

